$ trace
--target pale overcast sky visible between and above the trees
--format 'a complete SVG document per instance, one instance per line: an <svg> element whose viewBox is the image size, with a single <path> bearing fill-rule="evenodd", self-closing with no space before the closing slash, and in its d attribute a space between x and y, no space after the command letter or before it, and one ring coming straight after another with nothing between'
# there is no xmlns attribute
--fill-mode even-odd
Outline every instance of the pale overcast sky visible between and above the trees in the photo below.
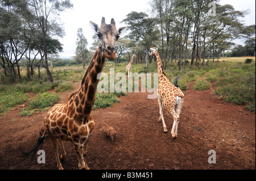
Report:
<svg viewBox="0 0 256 181"><path fill-rule="evenodd" d="M65 28L65 36L59 39L64 48L63 52L59 53L61 58L75 56L78 28L82 28L88 41L88 49L90 48L94 33L90 28L89 21L100 26L102 16L105 17L107 24L110 24L110 20L114 18L116 27L119 28L126 26L120 22L131 11L147 12L150 9L148 5L150 0L71 0L71 2L73 3L73 9L67 10L60 15L61 22ZM246 26L255 24L255 0L221 0L220 4L232 5L236 10L250 10L250 14L243 19L244 23ZM242 44L242 41L236 41L235 43Z"/></svg>

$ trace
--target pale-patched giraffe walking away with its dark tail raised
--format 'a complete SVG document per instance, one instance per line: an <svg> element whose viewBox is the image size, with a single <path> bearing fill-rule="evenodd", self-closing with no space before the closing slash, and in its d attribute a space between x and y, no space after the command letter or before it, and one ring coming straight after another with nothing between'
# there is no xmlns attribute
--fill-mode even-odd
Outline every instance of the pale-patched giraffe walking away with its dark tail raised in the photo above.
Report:
<svg viewBox="0 0 256 181"><path fill-rule="evenodd" d="M164 132L167 132L163 117L163 108L166 108L174 117L174 124L172 125L171 134L175 140L177 137L177 126L180 119L180 111L184 101L184 94L177 85L180 75L174 80L174 85L172 85L166 74L164 74L158 49L153 46L150 48L150 50L151 53L149 56L155 55L158 61L158 104L160 112L158 121L163 121Z"/></svg>

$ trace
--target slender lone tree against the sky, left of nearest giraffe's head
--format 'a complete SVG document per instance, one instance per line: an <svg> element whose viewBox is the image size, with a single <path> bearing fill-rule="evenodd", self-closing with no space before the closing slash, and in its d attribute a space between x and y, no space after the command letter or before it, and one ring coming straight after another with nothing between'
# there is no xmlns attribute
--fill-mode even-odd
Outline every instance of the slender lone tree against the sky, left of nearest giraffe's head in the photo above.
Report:
<svg viewBox="0 0 256 181"><path fill-rule="evenodd" d="M85 68L85 58L88 57L89 50L86 48L88 42L82 33L82 28L77 30L76 45L76 56L82 58L83 67Z"/></svg>

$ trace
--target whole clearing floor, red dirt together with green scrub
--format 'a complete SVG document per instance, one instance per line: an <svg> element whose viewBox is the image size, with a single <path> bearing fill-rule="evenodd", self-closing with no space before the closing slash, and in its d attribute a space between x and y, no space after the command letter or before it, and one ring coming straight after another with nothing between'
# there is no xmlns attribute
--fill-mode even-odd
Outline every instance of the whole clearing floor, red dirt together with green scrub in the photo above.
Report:
<svg viewBox="0 0 256 181"><path fill-rule="evenodd" d="M92 116L96 124L88 146L90 169L255 169L255 57L221 58L208 66L168 66L164 73L172 82L181 74L179 86L185 94L178 138L171 138L173 118L164 116L168 132L158 123L159 106L148 93L97 93ZM126 73L125 64L106 62L109 74ZM0 85L0 169L56 169L51 142L46 137L46 163L23 158L43 130L43 118L56 103L67 102L80 87L85 70L81 67L54 68L53 84L36 74L14 85ZM132 72L157 72L153 61L134 64ZM25 77L25 76L24 76ZM118 81L118 80L115 80ZM105 137L101 125L117 131L114 144ZM64 169L77 169L77 157L70 142L64 142L67 159ZM216 163L208 162L208 151L216 151Z"/></svg>

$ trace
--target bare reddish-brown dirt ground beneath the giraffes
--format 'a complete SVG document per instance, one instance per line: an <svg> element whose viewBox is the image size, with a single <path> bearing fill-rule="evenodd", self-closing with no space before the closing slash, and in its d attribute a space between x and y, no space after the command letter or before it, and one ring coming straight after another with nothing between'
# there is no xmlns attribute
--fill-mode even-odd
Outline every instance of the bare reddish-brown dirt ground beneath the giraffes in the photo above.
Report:
<svg viewBox="0 0 256 181"><path fill-rule="evenodd" d="M77 88L80 83L75 83ZM158 123L159 107L147 93L129 93L121 102L104 110L92 111L96 127L88 145L87 164L92 170L127 169L255 169L255 114L225 103L207 91L194 91L193 83L183 91L185 100L180 115L178 137L171 138L172 116L164 111L168 132ZM61 93L67 102L74 91ZM43 129L46 112L20 117L19 110L0 116L0 169L57 169L51 142L46 136L43 150L46 163L22 157L21 151L34 147ZM101 124L116 129L112 144ZM71 142L64 142L65 170L77 170L78 159ZM216 151L216 163L208 163L208 151ZM60 150L59 150L60 151ZM60 153L60 152L59 152Z"/></svg>

